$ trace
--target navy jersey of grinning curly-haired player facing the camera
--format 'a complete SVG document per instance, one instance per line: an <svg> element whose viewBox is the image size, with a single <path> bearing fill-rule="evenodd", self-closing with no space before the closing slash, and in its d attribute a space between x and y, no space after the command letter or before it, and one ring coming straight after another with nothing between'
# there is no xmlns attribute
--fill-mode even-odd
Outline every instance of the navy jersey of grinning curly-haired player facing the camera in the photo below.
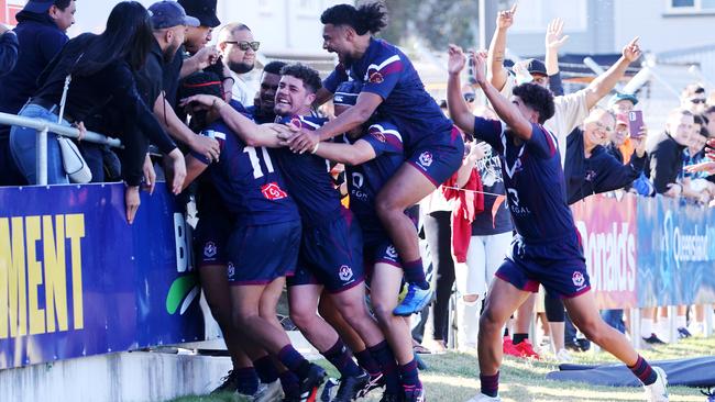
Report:
<svg viewBox="0 0 715 402"><path fill-rule="evenodd" d="M283 124L293 124L306 130L316 130L327 121L328 119L304 115L279 120ZM330 176L328 159L309 153L295 154L288 148L278 148L275 155L305 224L332 222L340 216L340 192Z"/></svg>

